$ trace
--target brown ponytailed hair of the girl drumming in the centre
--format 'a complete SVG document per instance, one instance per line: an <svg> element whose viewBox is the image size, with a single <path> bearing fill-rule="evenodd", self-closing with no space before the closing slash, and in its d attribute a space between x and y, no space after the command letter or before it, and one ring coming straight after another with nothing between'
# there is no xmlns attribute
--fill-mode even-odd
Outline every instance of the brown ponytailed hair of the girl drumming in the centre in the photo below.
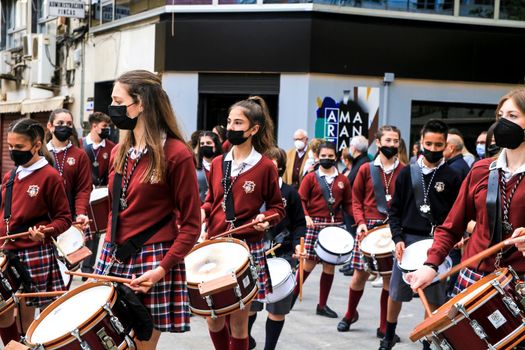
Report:
<svg viewBox="0 0 525 350"><path fill-rule="evenodd" d="M232 109L240 107L250 122L250 127L259 125L259 131L253 135L252 145L255 150L264 154L270 147L275 146L273 135L274 126L270 112L264 99L260 96L250 96L246 100L239 101L230 107Z"/></svg>

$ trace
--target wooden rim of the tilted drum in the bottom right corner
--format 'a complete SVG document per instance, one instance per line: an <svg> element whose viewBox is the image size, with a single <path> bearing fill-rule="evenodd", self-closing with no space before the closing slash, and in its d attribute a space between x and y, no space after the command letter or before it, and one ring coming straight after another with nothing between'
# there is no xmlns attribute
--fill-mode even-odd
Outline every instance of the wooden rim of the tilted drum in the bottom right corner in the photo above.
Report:
<svg viewBox="0 0 525 350"><path fill-rule="evenodd" d="M498 273L500 274L498 275ZM485 291L491 288L494 289L494 286L492 286L491 284L486 285L486 282L489 282L494 279L499 279L500 282L502 282L503 287L506 287L513 280L513 276L506 267L500 268L488 274L487 276L481 278L480 280L476 281L473 285L479 284L479 286L477 286L477 288L473 289L470 292L480 289L483 285L485 285L485 287L482 291L479 292L478 295L481 295L482 293L484 293ZM483 281L483 283L480 283L481 281ZM473 308L479 307L482 302L484 303L485 301L492 299L492 297L496 294L499 294L499 293L497 290L494 289L493 291L488 293L486 296L484 296L482 298L483 300L477 300L476 298L469 300L467 303L465 303L466 310L472 312ZM456 295L454 298L450 299L445 304L443 304L441 307L439 307L436 313L432 314L430 317L428 317L427 319L425 319L424 321L416 325L416 327L414 327L414 329L410 333L410 336L409 336L410 340L416 341L416 340L426 337L432 332L442 332L448 329L450 326L454 325L454 323L460 322L463 318L465 318L465 316L458 313L452 319L450 319L448 317L448 314L451 308L454 306L454 304L456 304L459 300L463 299L465 296L466 295L463 295L463 293ZM473 302L472 300L477 300L477 301ZM445 309L445 307L448 307L448 308Z"/></svg>

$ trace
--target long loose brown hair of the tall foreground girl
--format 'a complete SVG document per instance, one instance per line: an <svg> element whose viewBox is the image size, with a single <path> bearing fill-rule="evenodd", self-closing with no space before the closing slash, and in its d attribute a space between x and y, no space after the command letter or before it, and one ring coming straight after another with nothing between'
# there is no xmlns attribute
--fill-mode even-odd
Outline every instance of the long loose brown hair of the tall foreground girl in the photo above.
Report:
<svg viewBox="0 0 525 350"><path fill-rule="evenodd" d="M143 118L144 136L150 161L140 181L147 182L150 179L164 181L166 162L161 135L166 133L167 137L183 143L184 138L168 95L162 88L162 81L157 75L146 70L132 70L122 74L116 82L123 85L133 102L140 101L143 106L143 111L138 118ZM124 173L126 153L136 142L133 131L124 133L113 164L118 173Z"/></svg>

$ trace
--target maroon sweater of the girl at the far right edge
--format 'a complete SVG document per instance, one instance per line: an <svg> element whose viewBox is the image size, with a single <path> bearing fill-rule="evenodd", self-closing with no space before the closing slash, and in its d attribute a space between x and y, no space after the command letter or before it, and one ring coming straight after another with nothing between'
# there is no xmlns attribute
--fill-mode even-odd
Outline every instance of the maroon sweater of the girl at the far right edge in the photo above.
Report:
<svg viewBox="0 0 525 350"><path fill-rule="evenodd" d="M463 237L463 232L470 220L476 221L474 232L465 245L462 259L467 259L490 246L490 232L487 217L487 183L489 177L489 165L493 159L483 159L474 164L461 185L459 195L450 210L443 225L437 227L434 233L434 244L428 251L427 262L439 265L448 255L455 243ZM507 196L516 183L518 176L514 176L507 183ZM525 227L525 181L522 181L511 202L510 222L514 228ZM508 237L503 237L506 239ZM481 272L494 271L495 255L492 255L469 267ZM512 265L519 273L525 273L525 259L523 255L514 251L508 258L502 259L500 266Z"/></svg>

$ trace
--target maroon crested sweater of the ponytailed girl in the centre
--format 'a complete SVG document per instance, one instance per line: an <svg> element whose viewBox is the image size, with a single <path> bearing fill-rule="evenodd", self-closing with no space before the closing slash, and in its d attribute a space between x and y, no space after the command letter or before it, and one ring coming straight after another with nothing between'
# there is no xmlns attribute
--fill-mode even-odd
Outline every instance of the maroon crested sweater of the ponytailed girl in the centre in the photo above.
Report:
<svg viewBox="0 0 525 350"><path fill-rule="evenodd" d="M222 209L224 188L222 186L222 156L216 157L211 163L209 190L202 209L208 218L208 237L214 237L229 229L226 214ZM277 223L285 215L284 205L279 188L279 175L273 162L262 157L261 160L246 172L242 172L232 188L233 206L237 217L237 226L247 223L260 214L260 209L266 203L265 216L279 214L272 220ZM264 232L246 229L234 237L248 242L257 242L263 238Z"/></svg>

